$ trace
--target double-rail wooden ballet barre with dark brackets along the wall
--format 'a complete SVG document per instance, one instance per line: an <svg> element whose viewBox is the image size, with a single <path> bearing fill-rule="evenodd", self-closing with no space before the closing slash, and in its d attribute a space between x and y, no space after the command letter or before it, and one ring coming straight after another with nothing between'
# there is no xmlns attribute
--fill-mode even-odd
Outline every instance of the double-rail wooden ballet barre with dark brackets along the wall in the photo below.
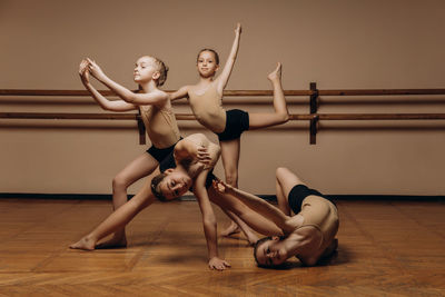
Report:
<svg viewBox="0 0 445 297"><path fill-rule="evenodd" d="M167 90L171 91L171 90ZM116 97L110 90L99 91L103 96ZM445 95L445 89L348 89L318 90L316 82L310 82L309 90L284 90L285 96L309 97L309 113L290 115L290 120L309 121L309 143L316 143L319 121L338 120L445 120L445 113L318 113L319 98L343 96L434 96ZM49 97L85 97L87 90L23 90L0 89L0 96L49 96ZM225 90L225 97L265 97L273 96L271 90ZM325 99L324 99L325 100ZM445 100L444 100L445 102ZM1 103L1 101L0 101ZM146 130L138 113L72 113L72 112L0 112L0 119L59 119L59 120L136 120L139 130L139 143L146 143ZM177 120L196 120L194 115L176 113Z"/></svg>

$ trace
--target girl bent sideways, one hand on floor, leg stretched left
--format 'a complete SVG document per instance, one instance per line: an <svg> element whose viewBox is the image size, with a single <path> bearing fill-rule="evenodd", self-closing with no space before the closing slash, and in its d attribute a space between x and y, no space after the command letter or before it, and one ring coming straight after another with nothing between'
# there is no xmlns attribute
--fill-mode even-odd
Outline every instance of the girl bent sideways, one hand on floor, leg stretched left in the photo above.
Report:
<svg viewBox="0 0 445 297"><path fill-rule="evenodd" d="M162 188L165 200L171 200L186 194L192 186L192 191L198 199L202 214L209 256L208 265L210 269L224 270L230 265L218 256L216 218L206 191L206 181L207 187L211 186L212 175L209 175L209 172L218 161L219 154L219 146L210 142L204 135L196 133L186 137L176 145L174 152L160 164L164 181L159 187ZM97 242L100 239L123 229L137 214L156 200L152 187L150 187L151 180L147 181L135 197L115 210L90 234L72 244L70 248L92 250L98 247ZM157 196L159 195L157 194Z"/></svg>

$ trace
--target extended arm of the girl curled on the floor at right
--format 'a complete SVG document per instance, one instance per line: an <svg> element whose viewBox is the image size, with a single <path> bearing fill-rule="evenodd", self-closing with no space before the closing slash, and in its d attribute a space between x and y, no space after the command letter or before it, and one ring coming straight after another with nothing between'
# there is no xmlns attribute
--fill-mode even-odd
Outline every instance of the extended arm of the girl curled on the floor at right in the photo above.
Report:
<svg viewBox="0 0 445 297"><path fill-rule="evenodd" d="M245 205L247 205L256 212L274 221L283 230L283 232L288 234L295 229L293 226L288 225L288 220L290 218L289 216L286 216L285 214L283 214L281 210L265 201L264 199L240 189L234 188L221 180L216 184L216 187L218 191L230 194L231 196L241 200Z"/></svg>

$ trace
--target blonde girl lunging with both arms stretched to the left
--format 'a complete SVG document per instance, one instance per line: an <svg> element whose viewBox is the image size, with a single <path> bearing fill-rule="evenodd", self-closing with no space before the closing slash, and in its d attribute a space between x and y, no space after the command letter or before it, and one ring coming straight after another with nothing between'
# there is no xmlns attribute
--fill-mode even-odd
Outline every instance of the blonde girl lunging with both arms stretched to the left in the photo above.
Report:
<svg viewBox="0 0 445 297"><path fill-rule="evenodd" d="M79 73L83 86L105 110L128 111L139 110L151 147L147 152L128 164L112 180L112 205L118 209L127 202L127 188L142 177L150 175L164 158L166 158L179 141L180 135L171 109L169 95L158 89L167 79L168 68L154 57L144 56L136 62L134 77L141 89L135 93L109 79L100 67L86 59L80 63ZM100 95L89 81L89 75L107 86L122 100L108 100ZM116 230L113 237L102 244L102 247L127 246L125 228Z"/></svg>

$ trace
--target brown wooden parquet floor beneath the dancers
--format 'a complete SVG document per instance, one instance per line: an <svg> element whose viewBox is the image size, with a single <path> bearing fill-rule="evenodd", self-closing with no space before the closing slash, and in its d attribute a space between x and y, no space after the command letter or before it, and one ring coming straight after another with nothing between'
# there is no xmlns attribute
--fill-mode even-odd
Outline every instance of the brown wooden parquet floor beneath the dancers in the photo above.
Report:
<svg viewBox="0 0 445 297"><path fill-rule="evenodd" d="M445 296L445 204L338 201L338 253L317 267L255 266L220 238L231 269L207 268L195 201L157 202L127 227L129 247L70 250L109 201L0 200L0 296ZM214 208L219 229L228 219Z"/></svg>

